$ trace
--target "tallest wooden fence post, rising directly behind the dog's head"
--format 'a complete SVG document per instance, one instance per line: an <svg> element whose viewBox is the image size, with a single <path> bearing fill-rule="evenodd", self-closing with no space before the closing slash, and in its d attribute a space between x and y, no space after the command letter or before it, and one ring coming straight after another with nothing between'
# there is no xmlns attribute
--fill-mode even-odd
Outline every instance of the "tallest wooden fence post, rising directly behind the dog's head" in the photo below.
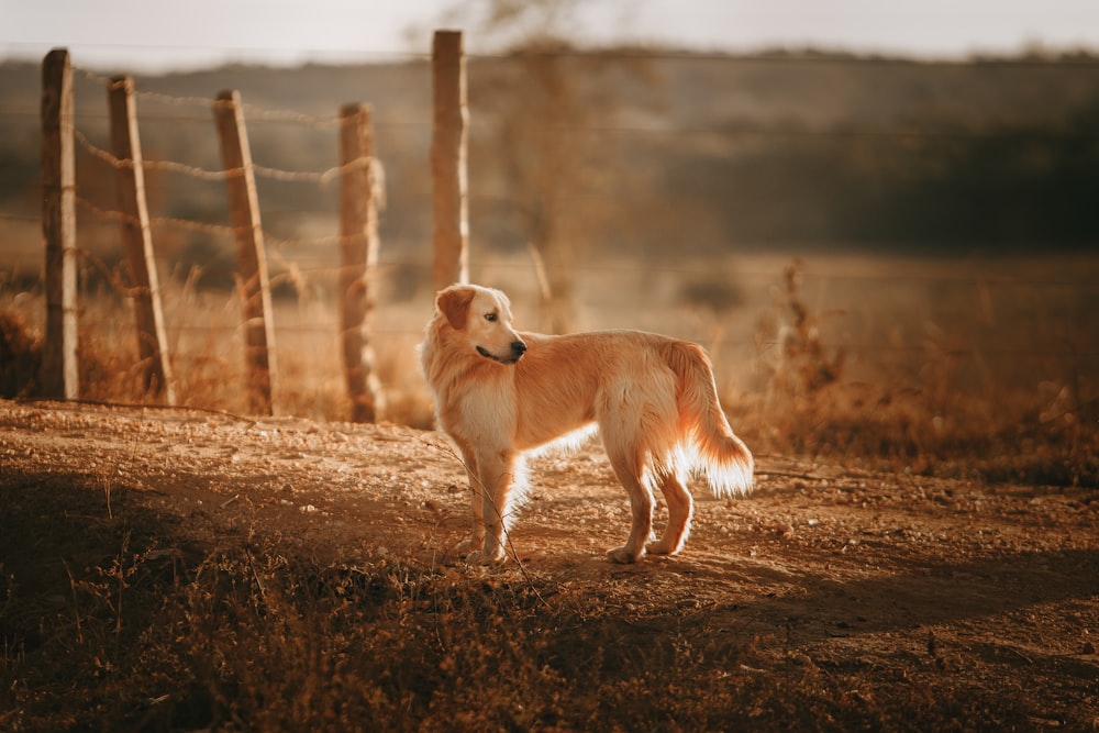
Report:
<svg viewBox="0 0 1099 733"><path fill-rule="evenodd" d="M434 125L431 171L434 186L436 290L469 280L469 222L466 200L466 59L460 31L435 31L431 52Z"/></svg>

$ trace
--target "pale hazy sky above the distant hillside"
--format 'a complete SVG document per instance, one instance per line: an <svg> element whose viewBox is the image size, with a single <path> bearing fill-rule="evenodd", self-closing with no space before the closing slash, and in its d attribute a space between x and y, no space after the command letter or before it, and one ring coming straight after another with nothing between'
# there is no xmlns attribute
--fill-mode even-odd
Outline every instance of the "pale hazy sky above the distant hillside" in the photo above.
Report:
<svg viewBox="0 0 1099 733"><path fill-rule="evenodd" d="M456 0L0 0L0 59L65 46L74 63L165 70L426 53ZM777 46L917 57L1099 51L1099 0L586 0L579 43ZM490 51L467 25L468 53ZM114 67L112 69L112 67Z"/></svg>

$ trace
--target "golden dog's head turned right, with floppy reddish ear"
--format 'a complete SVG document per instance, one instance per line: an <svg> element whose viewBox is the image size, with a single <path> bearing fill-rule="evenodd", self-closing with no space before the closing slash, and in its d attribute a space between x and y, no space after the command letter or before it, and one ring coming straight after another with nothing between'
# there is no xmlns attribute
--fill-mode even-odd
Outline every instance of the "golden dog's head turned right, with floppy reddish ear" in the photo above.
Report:
<svg viewBox="0 0 1099 733"><path fill-rule="evenodd" d="M435 297L435 318L444 318L480 356L514 364L526 343L511 327L511 303L499 290L477 285L452 285Z"/></svg>

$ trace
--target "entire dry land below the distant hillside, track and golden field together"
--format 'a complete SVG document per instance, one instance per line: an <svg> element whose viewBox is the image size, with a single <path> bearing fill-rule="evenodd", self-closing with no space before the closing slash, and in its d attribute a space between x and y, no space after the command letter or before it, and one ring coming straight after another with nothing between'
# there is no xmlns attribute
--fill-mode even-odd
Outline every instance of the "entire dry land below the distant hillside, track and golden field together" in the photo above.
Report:
<svg viewBox="0 0 1099 733"><path fill-rule="evenodd" d="M0 400L0 729L1099 730L1099 265L789 265L582 274L580 326L711 349L758 456L629 567L596 445L535 465L509 565L460 562L422 288L376 314L376 426L341 422L319 280L278 307L267 419L232 297L167 287L180 409L138 404L124 303L87 299L84 393L132 406ZM537 326L528 265L475 277ZM7 379L41 297L0 314Z"/></svg>

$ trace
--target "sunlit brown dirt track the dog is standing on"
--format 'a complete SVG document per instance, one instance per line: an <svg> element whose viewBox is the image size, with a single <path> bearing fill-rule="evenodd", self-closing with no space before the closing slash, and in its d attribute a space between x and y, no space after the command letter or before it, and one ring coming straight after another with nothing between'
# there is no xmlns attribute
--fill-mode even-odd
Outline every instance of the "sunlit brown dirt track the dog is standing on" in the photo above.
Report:
<svg viewBox="0 0 1099 733"><path fill-rule="evenodd" d="M511 533L519 563L466 568L456 552L468 524L465 473L441 435L0 401L8 504L0 511L21 508L33 519L26 506L36 493L78 485L88 496L73 511L89 521L106 521L112 501L125 500L199 546L284 537L324 562L389 558L519 581L525 570L654 634L669 619L710 633L750 632L755 656L742 673L813 667L862 695L946 680L1023 700L1040 730L1099 730L1095 489L990 486L764 455L746 498L713 500L696 487L695 525L680 555L622 566L604 551L624 541L629 508L601 448L541 458L531 469L532 491ZM37 517L44 536L47 507ZM663 519L658 509L658 529ZM10 586L40 593L43 613L51 604L63 613L63 560L8 541L0 548ZM0 622L9 636L15 624L31 625L2 614Z"/></svg>

